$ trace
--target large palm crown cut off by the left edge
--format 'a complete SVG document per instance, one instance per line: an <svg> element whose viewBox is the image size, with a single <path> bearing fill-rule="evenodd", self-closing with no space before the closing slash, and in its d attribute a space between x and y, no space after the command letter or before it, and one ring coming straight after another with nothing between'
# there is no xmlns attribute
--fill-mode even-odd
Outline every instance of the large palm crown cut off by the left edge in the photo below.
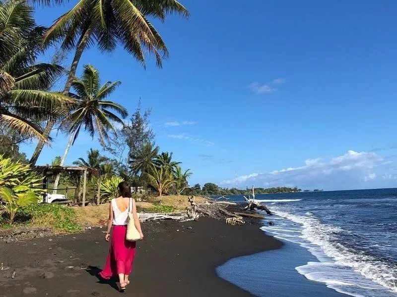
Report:
<svg viewBox="0 0 397 297"><path fill-rule="evenodd" d="M35 63L46 28L36 26L33 12L24 1L0 1L0 124L45 143L39 123L56 122L73 100L47 91L63 68Z"/></svg>

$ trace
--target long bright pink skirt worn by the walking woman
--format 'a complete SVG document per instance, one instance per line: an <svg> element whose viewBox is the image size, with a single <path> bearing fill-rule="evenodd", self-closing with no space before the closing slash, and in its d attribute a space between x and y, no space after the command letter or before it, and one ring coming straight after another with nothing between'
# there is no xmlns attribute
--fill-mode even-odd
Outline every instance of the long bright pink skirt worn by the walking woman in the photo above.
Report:
<svg viewBox="0 0 397 297"><path fill-rule="evenodd" d="M126 240L127 226L113 226L109 254L104 269L99 276L105 280L117 277L120 273L129 275L135 257L135 242Z"/></svg>

